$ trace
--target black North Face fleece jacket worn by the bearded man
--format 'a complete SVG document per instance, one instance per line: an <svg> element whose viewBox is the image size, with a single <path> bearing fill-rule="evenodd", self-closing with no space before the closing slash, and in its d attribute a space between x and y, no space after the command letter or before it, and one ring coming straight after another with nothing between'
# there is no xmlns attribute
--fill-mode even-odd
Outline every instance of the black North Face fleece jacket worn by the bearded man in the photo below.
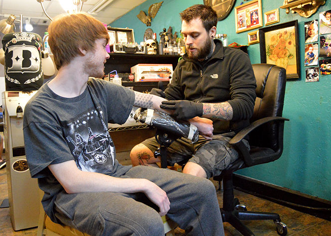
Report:
<svg viewBox="0 0 331 236"><path fill-rule="evenodd" d="M228 102L233 110L230 121L214 121L214 134L237 132L249 124L255 103L256 80L248 55L241 50L223 47L220 40L213 55L203 61L183 55L166 88L168 100L189 100L197 103Z"/></svg>

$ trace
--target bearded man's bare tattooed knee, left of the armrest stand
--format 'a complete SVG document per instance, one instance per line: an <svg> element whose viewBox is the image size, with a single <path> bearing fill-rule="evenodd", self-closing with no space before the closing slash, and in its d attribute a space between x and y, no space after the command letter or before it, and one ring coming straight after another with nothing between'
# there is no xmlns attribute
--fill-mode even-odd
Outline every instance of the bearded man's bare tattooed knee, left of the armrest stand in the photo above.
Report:
<svg viewBox="0 0 331 236"><path fill-rule="evenodd" d="M153 159L155 159L153 152L142 143L131 149L130 158L132 166L148 165L148 163L153 163Z"/></svg>

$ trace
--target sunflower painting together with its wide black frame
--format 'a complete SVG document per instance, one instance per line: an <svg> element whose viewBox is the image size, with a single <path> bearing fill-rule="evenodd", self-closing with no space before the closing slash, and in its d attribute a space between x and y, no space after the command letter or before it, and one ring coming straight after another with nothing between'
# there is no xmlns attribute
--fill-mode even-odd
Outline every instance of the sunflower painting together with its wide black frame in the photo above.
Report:
<svg viewBox="0 0 331 236"><path fill-rule="evenodd" d="M286 69L287 79L300 78L298 20L259 29L261 63Z"/></svg>

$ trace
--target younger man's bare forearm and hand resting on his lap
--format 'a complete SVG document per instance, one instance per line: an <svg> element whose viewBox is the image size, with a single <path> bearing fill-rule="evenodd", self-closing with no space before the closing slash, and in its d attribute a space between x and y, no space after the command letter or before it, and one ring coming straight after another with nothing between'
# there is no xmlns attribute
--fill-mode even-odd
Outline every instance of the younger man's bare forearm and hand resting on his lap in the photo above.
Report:
<svg viewBox="0 0 331 236"><path fill-rule="evenodd" d="M160 208L161 216L170 209L167 194L147 179L116 178L96 172L81 171L73 160L52 164L48 168L68 194L104 191L142 192Z"/></svg>

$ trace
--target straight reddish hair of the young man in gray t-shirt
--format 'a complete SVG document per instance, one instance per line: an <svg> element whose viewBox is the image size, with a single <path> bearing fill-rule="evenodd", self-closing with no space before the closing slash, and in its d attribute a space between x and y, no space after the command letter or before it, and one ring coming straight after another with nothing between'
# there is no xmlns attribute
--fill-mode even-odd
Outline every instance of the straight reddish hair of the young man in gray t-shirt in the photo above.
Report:
<svg viewBox="0 0 331 236"><path fill-rule="evenodd" d="M79 48L93 50L95 40L109 35L102 22L87 13L62 14L48 26L48 43L57 69L81 55Z"/></svg>

